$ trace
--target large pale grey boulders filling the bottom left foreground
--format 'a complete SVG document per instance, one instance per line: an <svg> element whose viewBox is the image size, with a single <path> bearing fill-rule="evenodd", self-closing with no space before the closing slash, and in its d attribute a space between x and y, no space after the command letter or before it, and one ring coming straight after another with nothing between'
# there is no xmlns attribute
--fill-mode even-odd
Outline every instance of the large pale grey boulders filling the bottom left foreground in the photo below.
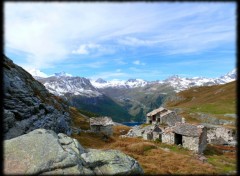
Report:
<svg viewBox="0 0 240 176"><path fill-rule="evenodd" d="M84 149L75 139L37 129L4 141L5 174L143 174L133 158L116 150Z"/></svg>

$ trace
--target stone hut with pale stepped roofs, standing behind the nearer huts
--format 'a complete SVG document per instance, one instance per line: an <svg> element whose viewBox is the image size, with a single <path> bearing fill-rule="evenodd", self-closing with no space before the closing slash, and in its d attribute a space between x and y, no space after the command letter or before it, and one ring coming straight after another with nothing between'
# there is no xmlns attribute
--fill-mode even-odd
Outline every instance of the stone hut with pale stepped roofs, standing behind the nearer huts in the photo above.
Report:
<svg viewBox="0 0 240 176"><path fill-rule="evenodd" d="M174 126L176 122L181 122L182 118L176 112L170 111L166 108L159 107L147 114L146 122L148 124L164 124Z"/></svg>

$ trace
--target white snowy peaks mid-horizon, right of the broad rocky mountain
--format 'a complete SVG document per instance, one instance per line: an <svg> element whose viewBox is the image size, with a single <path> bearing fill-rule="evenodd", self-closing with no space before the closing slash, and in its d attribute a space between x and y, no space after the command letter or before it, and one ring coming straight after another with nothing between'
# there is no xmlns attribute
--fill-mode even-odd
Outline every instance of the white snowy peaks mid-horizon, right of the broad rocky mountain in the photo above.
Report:
<svg viewBox="0 0 240 176"><path fill-rule="evenodd" d="M105 81L101 78L98 78L97 80L90 80L90 81L93 86L99 89L107 88L107 87L135 88L135 87L143 87L146 84L148 84L147 81L144 81L142 79L129 79L127 81L114 79L111 81Z"/></svg>

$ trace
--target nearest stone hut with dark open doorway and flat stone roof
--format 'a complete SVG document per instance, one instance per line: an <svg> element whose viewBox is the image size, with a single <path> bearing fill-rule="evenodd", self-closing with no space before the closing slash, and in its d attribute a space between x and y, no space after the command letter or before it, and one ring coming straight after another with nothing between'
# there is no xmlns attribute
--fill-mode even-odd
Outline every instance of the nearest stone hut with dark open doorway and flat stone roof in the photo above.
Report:
<svg viewBox="0 0 240 176"><path fill-rule="evenodd" d="M177 122L162 133L162 142L182 145L196 153L203 153L207 146L207 129L203 125Z"/></svg>

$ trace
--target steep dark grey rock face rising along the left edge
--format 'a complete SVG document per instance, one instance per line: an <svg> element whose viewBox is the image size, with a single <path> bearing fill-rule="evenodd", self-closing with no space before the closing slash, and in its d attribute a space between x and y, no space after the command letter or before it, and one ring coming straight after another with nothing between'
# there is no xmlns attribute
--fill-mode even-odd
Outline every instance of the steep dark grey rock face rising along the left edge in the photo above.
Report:
<svg viewBox="0 0 240 176"><path fill-rule="evenodd" d="M71 133L68 106L28 72L4 56L4 138L11 139L37 128Z"/></svg>

